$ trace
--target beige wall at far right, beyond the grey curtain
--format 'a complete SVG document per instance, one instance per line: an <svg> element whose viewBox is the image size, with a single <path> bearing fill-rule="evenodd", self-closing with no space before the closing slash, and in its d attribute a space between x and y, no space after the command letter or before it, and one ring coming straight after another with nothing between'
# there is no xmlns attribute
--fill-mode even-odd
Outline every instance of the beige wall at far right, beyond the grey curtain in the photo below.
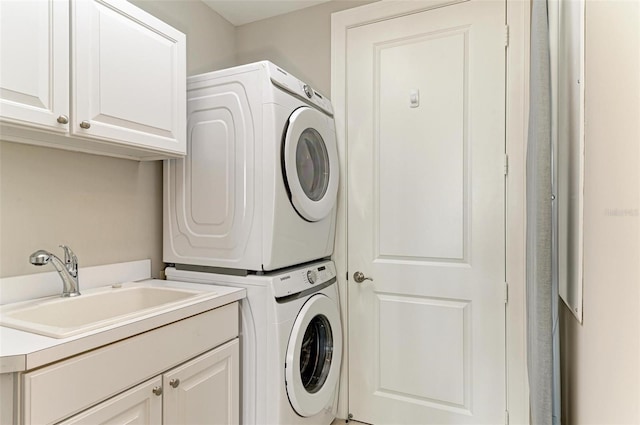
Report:
<svg viewBox="0 0 640 425"><path fill-rule="evenodd" d="M587 1L584 322L561 305L563 423L640 423L640 2Z"/></svg>

